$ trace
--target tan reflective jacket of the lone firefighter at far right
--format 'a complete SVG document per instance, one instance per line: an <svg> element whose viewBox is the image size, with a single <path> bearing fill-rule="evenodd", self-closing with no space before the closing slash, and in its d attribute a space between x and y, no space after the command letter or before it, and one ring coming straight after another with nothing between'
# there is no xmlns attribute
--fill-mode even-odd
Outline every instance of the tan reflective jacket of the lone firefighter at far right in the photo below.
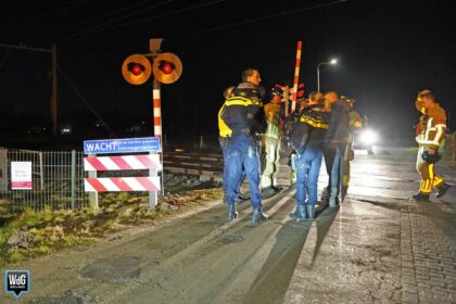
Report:
<svg viewBox="0 0 456 304"><path fill-rule="evenodd" d="M446 132L446 113L439 103L433 107L423 110L422 106L419 106L417 101L417 109L423 116L420 118L420 129L419 134L416 137L416 140L419 145L425 145L428 148L439 149L442 144L445 132Z"/></svg>

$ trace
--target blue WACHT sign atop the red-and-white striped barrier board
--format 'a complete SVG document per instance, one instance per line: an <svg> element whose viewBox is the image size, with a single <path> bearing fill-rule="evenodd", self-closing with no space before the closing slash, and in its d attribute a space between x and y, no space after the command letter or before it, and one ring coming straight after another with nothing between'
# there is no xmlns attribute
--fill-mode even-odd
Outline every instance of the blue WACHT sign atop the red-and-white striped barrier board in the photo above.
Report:
<svg viewBox="0 0 456 304"><path fill-rule="evenodd" d="M161 152L160 138L121 138L85 140L85 154L109 154L109 153L138 153L138 152Z"/></svg>

